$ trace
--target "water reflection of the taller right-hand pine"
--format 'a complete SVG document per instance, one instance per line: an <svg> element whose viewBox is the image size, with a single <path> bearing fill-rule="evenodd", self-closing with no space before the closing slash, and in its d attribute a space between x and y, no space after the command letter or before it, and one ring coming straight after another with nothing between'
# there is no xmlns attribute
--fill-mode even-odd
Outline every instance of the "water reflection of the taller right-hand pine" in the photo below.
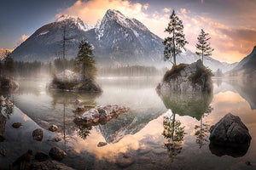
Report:
<svg viewBox="0 0 256 170"><path fill-rule="evenodd" d="M170 117L164 116L163 126L162 135L167 139L164 144L169 152L169 157L174 161L174 157L183 149L184 127L181 127L181 122L175 119L175 114Z"/></svg>

